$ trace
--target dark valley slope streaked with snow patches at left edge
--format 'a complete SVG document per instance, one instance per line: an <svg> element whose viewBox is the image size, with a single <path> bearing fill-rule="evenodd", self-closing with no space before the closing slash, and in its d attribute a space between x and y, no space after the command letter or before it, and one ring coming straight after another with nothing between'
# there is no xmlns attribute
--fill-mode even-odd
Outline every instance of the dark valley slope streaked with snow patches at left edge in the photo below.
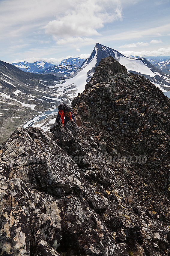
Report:
<svg viewBox="0 0 170 256"><path fill-rule="evenodd" d="M71 103L76 86L61 82L60 77L24 72L0 61L0 142L35 115Z"/></svg>

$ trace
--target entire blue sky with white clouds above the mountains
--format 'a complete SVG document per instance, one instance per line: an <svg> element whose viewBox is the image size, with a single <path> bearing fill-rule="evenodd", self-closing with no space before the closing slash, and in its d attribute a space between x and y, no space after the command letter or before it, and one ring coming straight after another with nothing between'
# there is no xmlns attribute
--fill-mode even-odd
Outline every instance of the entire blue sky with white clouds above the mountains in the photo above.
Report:
<svg viewBox="0 0 170 256"><path fill-rule="evenodd" d="M170 0L0 0L0 60L88 58L98 42L126 56L170 55Z"/></svg>

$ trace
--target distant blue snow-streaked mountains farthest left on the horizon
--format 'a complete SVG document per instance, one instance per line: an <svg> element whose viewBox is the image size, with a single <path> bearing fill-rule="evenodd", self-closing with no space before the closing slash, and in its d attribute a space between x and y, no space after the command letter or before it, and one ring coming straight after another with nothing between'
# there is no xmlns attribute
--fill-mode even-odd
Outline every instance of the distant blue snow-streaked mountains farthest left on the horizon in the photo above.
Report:
<svg viewBox="0 0 170 256"><path fill-rule="evenodd" d="M48 63L46 61L36 61L34 63L29 63L26 61L23 62L13 62L12 65L15 67L18 67L22 71L30 72L30 73L38 73L40 70L44 70L48 67L54 66L51 63Z"/></svg>

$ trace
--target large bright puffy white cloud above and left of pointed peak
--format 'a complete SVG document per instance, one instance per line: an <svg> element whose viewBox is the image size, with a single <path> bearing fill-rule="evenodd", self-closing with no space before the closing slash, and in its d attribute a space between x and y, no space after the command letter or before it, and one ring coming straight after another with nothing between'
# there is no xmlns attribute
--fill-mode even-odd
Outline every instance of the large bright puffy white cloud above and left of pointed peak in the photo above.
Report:
<svg viewBox="0 0 170 256"><path fill-rule="evenodd" d="M73 1L72 4L74 9L67 10L64 16L61 15L45 26L46 33L55 39L96 36L99 35L97 30L104 27L105 23L122 17L118 0L82 0Z"/></svg>

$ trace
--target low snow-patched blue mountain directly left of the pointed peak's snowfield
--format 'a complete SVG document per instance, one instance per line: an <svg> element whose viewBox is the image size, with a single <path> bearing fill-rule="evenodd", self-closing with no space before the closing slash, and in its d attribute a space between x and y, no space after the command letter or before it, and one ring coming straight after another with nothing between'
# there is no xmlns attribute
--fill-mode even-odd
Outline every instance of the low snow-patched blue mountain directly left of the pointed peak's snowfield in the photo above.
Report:
<svg viewBox="0 0 170 256"><path fill-rule="evenodd" d="M53 74L55 76L66 77L74 74L79 67L71 65L57 65L48 67L45 70L39 72L39 74Z"/></svg>

